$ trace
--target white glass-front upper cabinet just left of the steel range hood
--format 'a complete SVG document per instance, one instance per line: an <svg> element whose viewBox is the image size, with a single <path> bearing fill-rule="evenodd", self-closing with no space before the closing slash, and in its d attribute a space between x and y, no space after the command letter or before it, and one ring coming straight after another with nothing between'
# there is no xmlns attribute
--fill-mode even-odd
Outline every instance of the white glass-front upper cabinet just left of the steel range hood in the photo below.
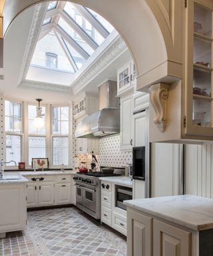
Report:
<svg viewBox="0 0 213 256"><path fill-rule="evenodd" d="M98 95L83 93L74 102L74 117L79 118L83 115L89 115L99 109Z"/></svg>

